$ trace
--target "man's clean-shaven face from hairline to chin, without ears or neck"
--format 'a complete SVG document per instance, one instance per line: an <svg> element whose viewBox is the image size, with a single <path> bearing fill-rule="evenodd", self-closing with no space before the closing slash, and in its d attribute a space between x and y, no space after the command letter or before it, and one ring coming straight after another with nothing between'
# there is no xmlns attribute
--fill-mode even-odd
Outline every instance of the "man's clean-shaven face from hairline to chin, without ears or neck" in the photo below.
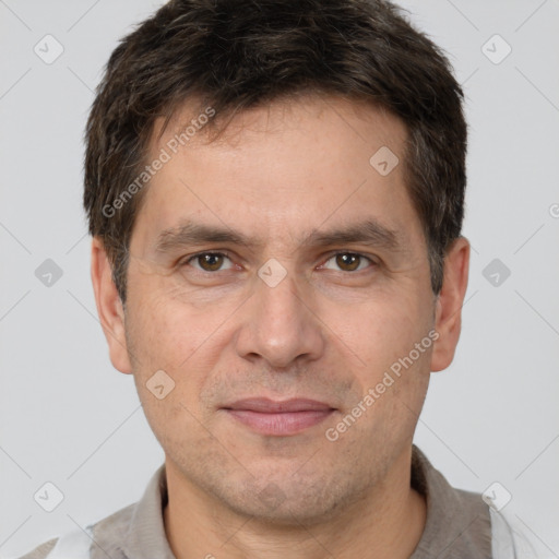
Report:
<svg viewBox="0 0 559 559"><path fill-rule="evenodd" d="M435 299L406 132L370 106L308 98L174 154L195 117L185 107L152 145L171 157L130 245L130 370L169 473L243 514L319 521L402 462L427 390L432 347L412 350ZM388 175L383 146L400 158ZM163 399L146 385L159 370L175 382Z"/></svg>

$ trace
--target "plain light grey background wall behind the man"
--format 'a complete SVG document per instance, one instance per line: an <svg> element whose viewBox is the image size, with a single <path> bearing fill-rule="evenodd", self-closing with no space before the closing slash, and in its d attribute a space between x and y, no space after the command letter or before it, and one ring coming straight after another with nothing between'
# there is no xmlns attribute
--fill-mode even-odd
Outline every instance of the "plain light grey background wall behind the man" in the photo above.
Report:
<svg viewBox="0 0 559 559"><path fill-rule="evenodd" d="M449 52L471 127L463 334L417 443L456 486L501 484L503 512L559 557L559 1L400 3ZM138 500L164 460L107 356L81 210L93 90L158 4L0 0L0 557ZM50 64L34 51L60 48L47 34L64 49ZM34 500L47 481L64 497L52 512Z"/></svg>

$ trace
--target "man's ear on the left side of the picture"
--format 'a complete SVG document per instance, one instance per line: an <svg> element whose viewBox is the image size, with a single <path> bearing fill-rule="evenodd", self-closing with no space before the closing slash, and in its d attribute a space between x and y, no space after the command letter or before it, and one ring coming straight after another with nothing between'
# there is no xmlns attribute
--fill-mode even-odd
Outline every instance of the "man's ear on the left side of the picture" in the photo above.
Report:
<svg viewBox="0 0 559 559"><path fill-rule="evenodd" d="M120 372L130 373L132 367L124 335L124 309L112 281L105 245L98 237L92 241L92 282L100 325L109 345L110 361Z"/></svg>

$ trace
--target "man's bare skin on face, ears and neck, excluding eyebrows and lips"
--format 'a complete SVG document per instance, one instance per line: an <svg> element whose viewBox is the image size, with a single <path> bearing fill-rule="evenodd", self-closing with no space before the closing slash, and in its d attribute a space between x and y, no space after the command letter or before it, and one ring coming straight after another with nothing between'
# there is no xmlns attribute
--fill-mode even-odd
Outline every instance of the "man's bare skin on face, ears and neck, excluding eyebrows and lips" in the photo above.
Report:
<svg viewBox="0 0 559 559"><path fill-rule="evenodd" d="M158 140L157 124L154 156L192 110L182 107ZM430 372L454 356L469 245L460 238L451 246L435 297L404 185L405 140L396 117L334 97L240 112L218 140L198 133L152 178L132 234L126 309L103 241L93 240L111 361L134 376L165 451L164 520L178 559L397 559L419 542L426 506L409 486L412 440ZM381 146L400 157L385 177L369 164ZM371 218L396 233L399 250L302 242ZM157 251L158 235L183 219L258 243ZM207 250L228 254L212 261L217 271L189 260ZM357 270L336 252L361 254ZM286 272L274 287L258 275L272 258ZM326 429L433 330L435 344L328 440ZM175 382L163 400L146 388L160 369ZM223 409L249 396L307 397L334 411L300 432L262 435Z"/></svg>

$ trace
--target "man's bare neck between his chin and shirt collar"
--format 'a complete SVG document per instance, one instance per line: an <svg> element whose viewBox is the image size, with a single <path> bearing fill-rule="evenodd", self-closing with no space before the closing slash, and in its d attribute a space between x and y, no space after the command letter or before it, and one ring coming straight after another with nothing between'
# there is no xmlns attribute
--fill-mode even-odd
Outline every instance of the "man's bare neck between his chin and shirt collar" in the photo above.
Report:
<svg viewBox="0 0 559 559"><path fill-rule="evenodd" d="M177 559L408 559L425 526L426 503L411 487L411 449L382 484L323 523L277 526L236 514L190 484L167 459L165 531Z"/></svg>

